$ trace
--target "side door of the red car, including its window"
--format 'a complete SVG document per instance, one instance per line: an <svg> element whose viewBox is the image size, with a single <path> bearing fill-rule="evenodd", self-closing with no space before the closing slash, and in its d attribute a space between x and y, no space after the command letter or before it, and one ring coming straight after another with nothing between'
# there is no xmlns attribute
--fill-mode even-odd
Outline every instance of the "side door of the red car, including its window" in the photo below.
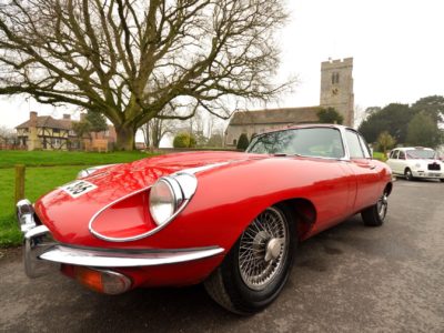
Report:
<svg viewBox="0 0 444 333"><path fill-rule="evenodd" d="M356 196L355 211L374 204L381 195L380 168L372 160L370 150L361 135L351 130L345 130L345 141L350 153L349 167L355 175Z"/></svg>

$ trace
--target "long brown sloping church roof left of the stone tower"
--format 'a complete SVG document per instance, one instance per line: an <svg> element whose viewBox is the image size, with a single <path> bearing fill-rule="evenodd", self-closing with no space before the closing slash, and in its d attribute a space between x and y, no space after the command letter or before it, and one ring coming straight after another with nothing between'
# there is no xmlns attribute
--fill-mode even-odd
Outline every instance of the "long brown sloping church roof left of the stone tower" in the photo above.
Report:
<svg viewBox="0 0 444 333"><path fill-rule="evenodd" d="M265 109L256 111L236 111L230 125L246 124L286 124L319 122L321 107Z"/></svg>

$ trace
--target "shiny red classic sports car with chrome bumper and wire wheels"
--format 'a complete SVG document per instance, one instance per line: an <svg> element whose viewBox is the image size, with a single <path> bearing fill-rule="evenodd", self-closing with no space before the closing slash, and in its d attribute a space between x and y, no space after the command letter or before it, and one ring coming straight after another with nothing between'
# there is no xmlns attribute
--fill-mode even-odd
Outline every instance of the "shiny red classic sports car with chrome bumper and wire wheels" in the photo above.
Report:
<svg viewBox="0 0 444 333"><path fill-rule="evenodd" d="M361 212L382 225L391 170L341 125L256 135L246 152L190 152L84 172L18 203L24 268L92 290L203 282L249 314L276 299L299 242ZM315 282L313 282L315 283Z"/></svg>

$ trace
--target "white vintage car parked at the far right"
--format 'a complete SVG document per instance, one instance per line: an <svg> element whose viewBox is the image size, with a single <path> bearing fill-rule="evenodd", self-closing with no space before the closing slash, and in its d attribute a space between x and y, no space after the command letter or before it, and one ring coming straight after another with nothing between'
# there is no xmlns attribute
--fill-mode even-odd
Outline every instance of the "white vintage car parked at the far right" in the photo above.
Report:
<svg viewBox="0 0 444 333"><path fill-rule="evenodd" d="M422 147L396 148L386 161L393 174L414 178L440 179L444 182L444 163L438 160L436 151Z"/></svg>

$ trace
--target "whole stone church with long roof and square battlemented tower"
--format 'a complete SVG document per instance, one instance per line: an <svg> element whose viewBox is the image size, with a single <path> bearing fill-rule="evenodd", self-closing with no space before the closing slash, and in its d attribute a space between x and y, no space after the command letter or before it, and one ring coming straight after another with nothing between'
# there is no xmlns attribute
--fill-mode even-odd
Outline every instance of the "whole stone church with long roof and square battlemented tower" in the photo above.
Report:
<svg viewBox="0 0 444 333"><path fill-rule="evenodd" d="M239 137L266 130L282 129L293 124L316 123L321 108L334 108L342 117L344 124L353 127L353 58L329 60L321 63L321 101L316 107L265 109L256 111L236 111L230 120L225 132L225 145L236 145Z"/></svg>

